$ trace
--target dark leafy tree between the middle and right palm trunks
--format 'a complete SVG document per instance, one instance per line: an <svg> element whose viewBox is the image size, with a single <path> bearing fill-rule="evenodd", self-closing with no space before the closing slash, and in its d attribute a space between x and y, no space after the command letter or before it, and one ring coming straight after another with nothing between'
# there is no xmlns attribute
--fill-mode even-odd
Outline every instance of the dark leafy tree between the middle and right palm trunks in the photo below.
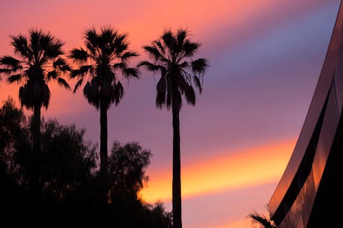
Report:
<svg viewBox="0 0 343 228"><path fill-rule="evenodd" d="M143 202L139 191L149 180L145 174L152 153L138 142L124 145L113 142L108 159L110 175L111 225L115 227L171 228L171 213L165 212L163 203Z"/></svg>

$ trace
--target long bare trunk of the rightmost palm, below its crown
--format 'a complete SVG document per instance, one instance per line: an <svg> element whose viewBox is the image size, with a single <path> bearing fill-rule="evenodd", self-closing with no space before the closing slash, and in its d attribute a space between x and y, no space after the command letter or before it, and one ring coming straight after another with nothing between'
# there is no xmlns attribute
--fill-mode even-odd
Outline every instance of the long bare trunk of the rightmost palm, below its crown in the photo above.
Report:
<svg viewBox="0 0 343 228"><path fill-rule="evenodd" d="M175 101L175 100L174 100ZM180 108L172 102L173 111L173 227L182 228L181 222L181 160L180 160Z"/></svg>

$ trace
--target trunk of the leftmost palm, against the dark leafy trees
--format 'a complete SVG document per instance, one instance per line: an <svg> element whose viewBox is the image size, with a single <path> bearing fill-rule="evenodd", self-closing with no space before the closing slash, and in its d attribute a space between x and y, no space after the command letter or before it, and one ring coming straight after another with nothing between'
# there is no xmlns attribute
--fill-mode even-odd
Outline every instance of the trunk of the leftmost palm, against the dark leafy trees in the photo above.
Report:
<svg viewBox="0 0 343 228"><path fill-rule="evenodd" d="M32 153L32 200L37 206L40 195L39 186L39 156L40 156L40 104L34 105L34 118L32 121L33 153Z"/></svg>

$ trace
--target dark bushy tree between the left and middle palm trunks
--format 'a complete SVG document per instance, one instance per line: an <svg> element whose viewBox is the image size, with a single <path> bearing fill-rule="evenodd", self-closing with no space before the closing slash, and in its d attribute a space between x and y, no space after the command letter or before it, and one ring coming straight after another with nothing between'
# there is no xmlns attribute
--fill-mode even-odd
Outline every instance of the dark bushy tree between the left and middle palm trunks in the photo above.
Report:
<svg viewBox="0 0 343 228"><path fill-rule="evenodd" d="M78 199L77 191L92 179L96 168L96 145L84 141L84 129L60 125L52 119L43 122L40 173L43 201Z"/></svg>

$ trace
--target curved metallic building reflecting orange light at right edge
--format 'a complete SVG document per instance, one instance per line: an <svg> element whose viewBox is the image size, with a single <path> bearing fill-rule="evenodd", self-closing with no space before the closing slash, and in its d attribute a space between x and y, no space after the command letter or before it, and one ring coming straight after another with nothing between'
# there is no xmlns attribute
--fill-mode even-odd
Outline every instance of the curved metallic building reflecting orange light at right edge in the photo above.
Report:
<svg viewBox="0 0 343 228"><path fill-rule="evenodd" d="M342 107L341 3L305 123L268 203L277 227L343 227Z"/></svg>

